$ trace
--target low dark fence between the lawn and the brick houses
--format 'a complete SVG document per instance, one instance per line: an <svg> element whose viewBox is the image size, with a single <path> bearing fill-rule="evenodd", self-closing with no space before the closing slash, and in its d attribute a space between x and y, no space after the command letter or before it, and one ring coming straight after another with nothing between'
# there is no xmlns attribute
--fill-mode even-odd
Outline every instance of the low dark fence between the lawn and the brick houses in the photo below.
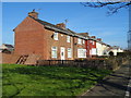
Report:
<svg viewBox="0 0 131 98"><path fill-rule="evenodd" d="M36 65L110 69L105 60L38 60Z"/></svg>

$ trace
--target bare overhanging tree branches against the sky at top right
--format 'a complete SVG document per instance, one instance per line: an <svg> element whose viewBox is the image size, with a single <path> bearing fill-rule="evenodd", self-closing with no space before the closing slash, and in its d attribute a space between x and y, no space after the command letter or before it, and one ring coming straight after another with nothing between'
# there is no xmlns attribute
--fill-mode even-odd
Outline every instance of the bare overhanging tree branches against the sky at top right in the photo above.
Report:
<svg viewBox="0 0 131 98"><path fill-rule="evenodd" d="M104 0L103 0L104 1ZM84 7L91 8L103 8L107 7L108 15L117 13L122 8L128 8L131 4L131 0L105 0L102 2L97 0L97 2L81 2Z"/></svg>

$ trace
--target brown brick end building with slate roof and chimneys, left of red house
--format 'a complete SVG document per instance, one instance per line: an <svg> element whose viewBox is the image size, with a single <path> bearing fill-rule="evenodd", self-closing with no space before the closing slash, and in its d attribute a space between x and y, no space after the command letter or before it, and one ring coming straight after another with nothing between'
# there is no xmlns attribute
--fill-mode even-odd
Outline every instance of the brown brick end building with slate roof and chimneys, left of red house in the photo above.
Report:
<svg viewBox="0 0 131 98"><path fill-rule="evenodd" d="M74 60L86 58L85 37L38 19L33 11L14 29L16 54L39 54L44 60Z"/></svg>

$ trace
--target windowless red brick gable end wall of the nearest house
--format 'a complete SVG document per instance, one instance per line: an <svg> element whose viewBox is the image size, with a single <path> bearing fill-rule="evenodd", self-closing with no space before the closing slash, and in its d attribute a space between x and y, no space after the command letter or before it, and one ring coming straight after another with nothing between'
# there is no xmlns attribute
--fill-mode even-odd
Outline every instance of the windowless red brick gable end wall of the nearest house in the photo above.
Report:
<svg viewBox="0 0 131 98"><path fill-rule="evenodd" d="M26 17L15 28L15 49L17 54L40 54L47 59L47 40L44 26L31 17Z"/></svg>

